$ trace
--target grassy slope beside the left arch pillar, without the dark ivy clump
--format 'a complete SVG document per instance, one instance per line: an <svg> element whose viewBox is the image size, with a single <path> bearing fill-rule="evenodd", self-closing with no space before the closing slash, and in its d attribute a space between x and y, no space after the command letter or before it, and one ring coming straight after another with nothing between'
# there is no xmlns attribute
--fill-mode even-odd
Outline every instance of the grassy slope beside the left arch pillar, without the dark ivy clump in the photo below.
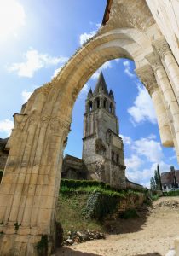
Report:
<svg viewBox="0 0 179 256"><path fill-rule="evenodd" d="M108 199L113 197L121 198L130 194L137 195L139 193L131 189L127 191L112 189L109 185L96 181L61 180L57 221L61 222L65 236L67 236L68 231L104 231L99 221L96 221L94 218L85 218L83 214L89 196L95 191L101 192Z"/></svg>

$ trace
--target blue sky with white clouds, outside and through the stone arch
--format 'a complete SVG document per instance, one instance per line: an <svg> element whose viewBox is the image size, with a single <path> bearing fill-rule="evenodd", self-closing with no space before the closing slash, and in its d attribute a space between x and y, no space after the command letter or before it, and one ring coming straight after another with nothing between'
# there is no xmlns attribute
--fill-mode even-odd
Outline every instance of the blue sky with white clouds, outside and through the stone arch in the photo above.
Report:
<svg viewBox="0 0 179 256"><path fill-rule="evenodd" d="M0 137L9 136L13 114L20 112L32 91L50 81L95 33L105 6L106 0L0 1ZM148 185L157 164L161 172L178 166L174 149L161 146L153 104L134 69L134 62L124 59L101 67L117 103L126 175ZM99 70L84 85L75 103L65 154L81 157L85 98L98 74Z"/></svg>

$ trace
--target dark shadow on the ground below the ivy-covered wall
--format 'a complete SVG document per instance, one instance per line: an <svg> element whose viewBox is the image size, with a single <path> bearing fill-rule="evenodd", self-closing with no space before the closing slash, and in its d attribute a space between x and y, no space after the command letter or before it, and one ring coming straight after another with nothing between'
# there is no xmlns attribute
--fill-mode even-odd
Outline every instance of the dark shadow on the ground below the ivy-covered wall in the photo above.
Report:
<svg viewBox="0 0 179 256"><path fill-rule="evenodd" d="M153 207L142 206L137 209L138 217L136 218L118 218L116 220L106 220L104 227L108 234L126 234L142 230L145 227L150 211ZM146 254L147 255L147 254ZM149 256L150 254L148 254ZM151 254L157 255L157 254Z"/></svg>

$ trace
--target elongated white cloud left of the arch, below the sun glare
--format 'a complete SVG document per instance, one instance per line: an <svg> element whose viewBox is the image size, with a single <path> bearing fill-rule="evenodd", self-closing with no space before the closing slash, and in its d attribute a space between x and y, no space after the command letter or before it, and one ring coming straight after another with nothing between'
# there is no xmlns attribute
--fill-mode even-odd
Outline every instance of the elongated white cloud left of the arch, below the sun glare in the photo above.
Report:
<svg viewBox="0 0 179 256"><path fill-rule="evenodd" d="M48 54L40 54L36 49L28 50L24 58L26 61L12 64L9 72L17 72L20 77L32 78L39 69L64 64L68 60L64 56L52 57Z"/></svg>

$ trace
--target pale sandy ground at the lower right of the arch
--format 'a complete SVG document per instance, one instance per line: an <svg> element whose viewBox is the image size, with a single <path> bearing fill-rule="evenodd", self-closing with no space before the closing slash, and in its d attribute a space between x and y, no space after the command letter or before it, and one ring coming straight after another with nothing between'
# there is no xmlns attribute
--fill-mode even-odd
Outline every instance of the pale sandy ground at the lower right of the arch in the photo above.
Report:
<svg viewBox="0 0 179 256"><path fill-rule="evenodd" d="M165 256L179 236L179 197L160 198L139 214L140 218L108 222L112 232L105 240L61 247L55 255Z"/></svg>

